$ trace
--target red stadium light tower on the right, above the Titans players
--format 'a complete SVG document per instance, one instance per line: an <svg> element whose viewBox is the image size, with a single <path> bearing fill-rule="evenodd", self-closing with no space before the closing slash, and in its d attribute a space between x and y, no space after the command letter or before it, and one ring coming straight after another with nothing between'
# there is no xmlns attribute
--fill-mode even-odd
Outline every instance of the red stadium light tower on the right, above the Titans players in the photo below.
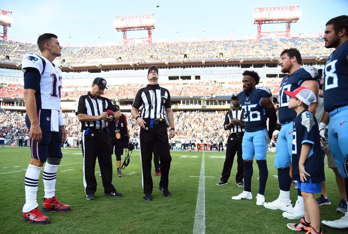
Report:
<svg viewBox="0 0 348 234"><path fill-rule="evenodd" d="M296 23L302 12L299 10L300 5L291 7L255 7L254 24L258 25L258 39L268 39L268 34L277 33L277 38L290 37L290 24ZM261 32L262 24L285 23L286 31Z"/></svg>

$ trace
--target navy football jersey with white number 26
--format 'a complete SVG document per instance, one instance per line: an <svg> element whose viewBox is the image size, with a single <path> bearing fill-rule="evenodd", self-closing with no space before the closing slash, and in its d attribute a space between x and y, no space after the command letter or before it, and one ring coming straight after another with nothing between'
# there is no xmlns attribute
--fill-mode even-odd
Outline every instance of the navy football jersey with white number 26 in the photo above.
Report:
<svg viewBox="0 0 348 234"><path fill-rule="evenodd" d="M254 89L249 96L244 91L238 93L239 103L244 109L246 132L256 132L267 128L266 110L261 106L261 100L271 96L271 90L264 86Z"/></svg>

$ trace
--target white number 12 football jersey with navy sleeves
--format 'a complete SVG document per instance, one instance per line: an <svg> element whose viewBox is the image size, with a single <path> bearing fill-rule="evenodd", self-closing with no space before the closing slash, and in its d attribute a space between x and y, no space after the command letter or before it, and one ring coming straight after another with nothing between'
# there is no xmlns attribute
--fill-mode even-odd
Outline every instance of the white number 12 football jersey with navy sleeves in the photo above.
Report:
<svg viewBox="0 0 348 234"><path fill-rule="evenodd" d="M61 109L62 71L44 56L26 53L22 60L22 73L27 68L36 68L41 76L24 78L24 89L36 90L37 109Z"/></svg>

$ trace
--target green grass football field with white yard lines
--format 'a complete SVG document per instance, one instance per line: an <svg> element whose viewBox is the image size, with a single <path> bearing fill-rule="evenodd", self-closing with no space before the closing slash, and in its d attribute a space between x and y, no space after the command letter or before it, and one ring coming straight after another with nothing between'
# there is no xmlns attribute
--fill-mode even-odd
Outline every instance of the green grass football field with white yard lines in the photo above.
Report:
<svg viewBox="0 0 348 234"><path fill-rule="evenodd" d="M236 162L228 185L216 185L221 176L224 152L171 151L173 159L169 190L172 196L167 198L161 195L157 188L160 177L153 176L153 200L145 202L142 199L139 150L133 151L129 165L122 171L122 178L117 177L114 169L113 184L118 192L124 194L121 198L103 195L99 166L96 166L96 200L86 200L82 184L81 150L62 151L63 159L57 172L56 196L60 202L71 205L72 210L66 213L45 213L51 219L50 224L32 225L23 222L22 215L25 202L24 175L30 161L30 149L1 149L0 207L4 213L0 221L0 233L296 233L288 229L286 224L298 220L283 218L283 211L258 206L256 199L231 199L231 196L243 191L234 180ZM114 168L115 161L113 155ZM273 161L274 153L269 153L266 202L275 200L279 195L278 179L274 177L277 171ZM258 193L258 172L257 164L254 163L253 197ZM320 206L321 220L339 219L343 214L335 213L340 197L334 174L327 166L325 174L332 204ZM38 187L39 208L43 196L41 173ZM315 196L318 197L319 194ZM291 198L293 202L297 200L297 191L293 187ZM197 211L196 207L199 208ZM322 228L327 234L347 233L324 226Z"/></svg>

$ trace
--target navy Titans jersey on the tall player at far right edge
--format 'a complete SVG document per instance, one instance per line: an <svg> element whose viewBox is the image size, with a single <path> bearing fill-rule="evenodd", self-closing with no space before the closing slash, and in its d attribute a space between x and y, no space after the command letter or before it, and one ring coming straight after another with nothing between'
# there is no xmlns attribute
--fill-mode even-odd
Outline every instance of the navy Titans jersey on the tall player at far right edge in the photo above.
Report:
<svg viewBox="0 0 348 234"><path fill-rule="evenodd" d="M324 109L327 112L348 105L348 40L327 59L323 70Z"/></svg>

